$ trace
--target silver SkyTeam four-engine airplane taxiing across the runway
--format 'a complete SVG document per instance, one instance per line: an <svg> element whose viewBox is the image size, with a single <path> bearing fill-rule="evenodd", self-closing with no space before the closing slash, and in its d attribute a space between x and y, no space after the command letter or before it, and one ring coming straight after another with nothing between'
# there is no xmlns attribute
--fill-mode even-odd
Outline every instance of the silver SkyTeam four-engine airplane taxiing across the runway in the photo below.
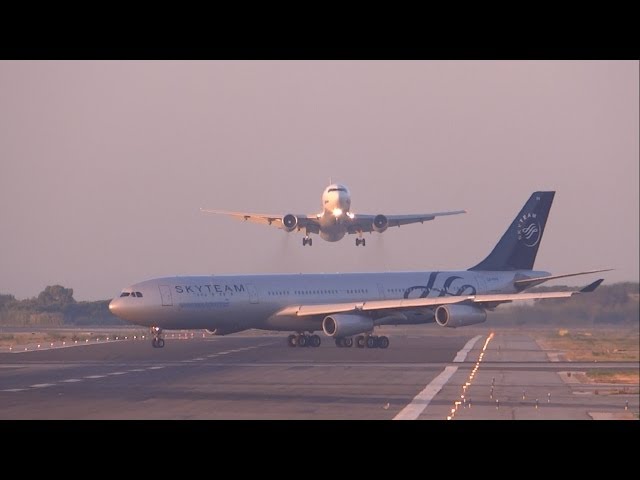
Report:
<svg viewBox="0 0 640 480"><path fill-rule="evenodd" d="M533 193L493 251L468 270L154 278L122 290L109 310L151 327L154 347L164 346L163 329L262 329L295 332L291 347L318 347L315 332L322 331L338 347L387 348L389 339L374 335L380 325L462 327L484 322L502 303L595 290L603 279L577 291L524 293L548 280L608 271L533 270L554 195Z"/></svg>

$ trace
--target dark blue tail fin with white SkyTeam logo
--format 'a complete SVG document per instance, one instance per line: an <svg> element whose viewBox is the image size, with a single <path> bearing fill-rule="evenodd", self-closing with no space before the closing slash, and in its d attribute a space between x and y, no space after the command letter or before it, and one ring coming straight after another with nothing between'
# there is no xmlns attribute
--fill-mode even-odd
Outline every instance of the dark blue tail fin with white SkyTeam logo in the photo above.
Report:
<svg viewBox="0 0 640 480"><path fill-rule="evenodd" d="M532 270L556 192L534 192L492 252L469 270Z"/></svg>

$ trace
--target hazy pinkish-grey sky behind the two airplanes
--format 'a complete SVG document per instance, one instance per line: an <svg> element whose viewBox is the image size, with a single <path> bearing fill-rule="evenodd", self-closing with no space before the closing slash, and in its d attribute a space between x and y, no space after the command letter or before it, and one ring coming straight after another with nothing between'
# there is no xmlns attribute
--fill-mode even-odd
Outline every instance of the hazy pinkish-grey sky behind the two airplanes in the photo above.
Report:
<svg viewBox="0 0 640 480"><path fill-rule="evenodd" d="M0 293L466 269L556 190L536 265L638 281L637 61L0 62ZM205 215L466 215L337 243ZM586 283L585 277L569 284ZM561 282L560 282L561 283Z"/></svg>

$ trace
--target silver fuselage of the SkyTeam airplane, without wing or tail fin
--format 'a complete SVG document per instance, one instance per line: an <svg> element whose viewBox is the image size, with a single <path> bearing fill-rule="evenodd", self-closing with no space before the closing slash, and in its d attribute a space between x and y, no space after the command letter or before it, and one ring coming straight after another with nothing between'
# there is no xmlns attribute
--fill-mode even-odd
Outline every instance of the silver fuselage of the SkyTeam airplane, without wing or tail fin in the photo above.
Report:
<svg viewBox="0 0 640 480"><path fill-rule="evenodd" d="M370 300L516 293L514 280L548 275L512 272L394 272L164 277L124 289L109 308L138 325L166 329L320 330L322 318L278 314L284 307ZM131 292L139 295L131 295ZM391 312L393 313L393 312ZM433 320L433 310L385 314L379 324Z"/></svg>

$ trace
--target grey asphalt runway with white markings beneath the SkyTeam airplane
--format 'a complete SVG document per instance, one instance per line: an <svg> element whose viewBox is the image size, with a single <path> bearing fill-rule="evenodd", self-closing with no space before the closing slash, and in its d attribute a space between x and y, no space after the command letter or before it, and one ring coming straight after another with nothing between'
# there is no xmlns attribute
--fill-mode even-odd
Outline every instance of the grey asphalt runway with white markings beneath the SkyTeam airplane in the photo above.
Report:
<svg viewBox="0 0 640 480"><path fill-rule="evenodd" d="M590 419L638 412L637 385L627 393L601 386L596 395L562 373L638 369L637 362L550 362L515 331L424 331L380 332L391 340L386 350L336 348L326 337L319 348L289 348L284 335L197 335L168 338L163 349L128 340L0 353L0 419Z"/></svg>

